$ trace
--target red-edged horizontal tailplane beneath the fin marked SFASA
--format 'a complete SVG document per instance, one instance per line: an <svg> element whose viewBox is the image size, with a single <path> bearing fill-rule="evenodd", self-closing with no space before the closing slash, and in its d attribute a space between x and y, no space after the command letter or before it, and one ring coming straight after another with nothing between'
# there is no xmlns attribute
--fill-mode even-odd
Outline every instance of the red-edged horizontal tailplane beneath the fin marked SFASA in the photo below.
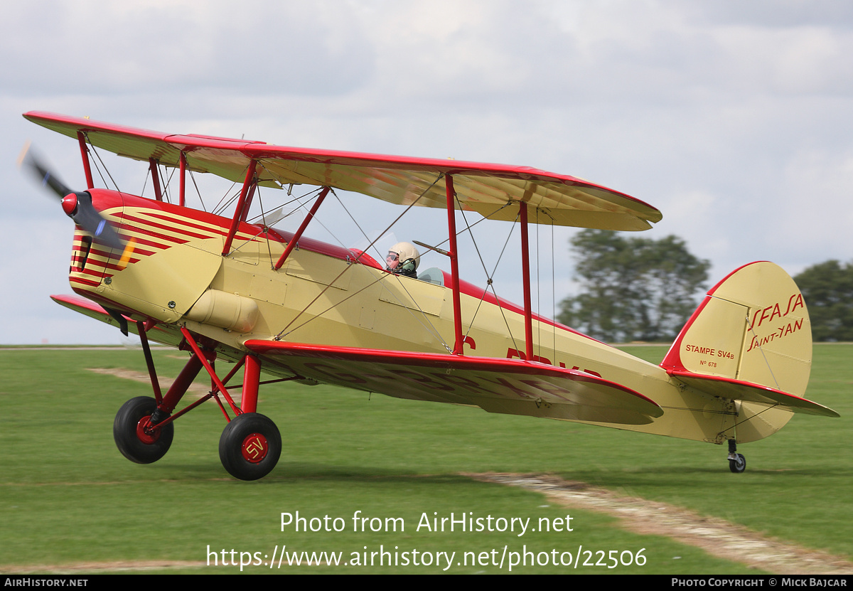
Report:
<svg viewBox="0 0 853 591"><path fill-rule="evenodd" d="M840 416L832 408L758 383L743 382L730 377L706 376L693 372L670 371L669 373L670 376L677 377L682 382L687 383L688 386L722 398L783 407L792 413L816 414L821 417Z"/></svg>

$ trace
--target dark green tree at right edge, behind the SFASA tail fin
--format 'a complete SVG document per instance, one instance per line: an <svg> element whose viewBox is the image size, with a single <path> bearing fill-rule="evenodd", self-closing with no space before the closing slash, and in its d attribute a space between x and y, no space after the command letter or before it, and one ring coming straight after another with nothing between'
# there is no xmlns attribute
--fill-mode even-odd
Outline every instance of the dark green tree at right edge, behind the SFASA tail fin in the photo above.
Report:
<svg viewBox="0 0 853 591"><path fill-rule="evenodd" d="M853 341L853 263L827 260L794 277L815 341Z"/></svg>

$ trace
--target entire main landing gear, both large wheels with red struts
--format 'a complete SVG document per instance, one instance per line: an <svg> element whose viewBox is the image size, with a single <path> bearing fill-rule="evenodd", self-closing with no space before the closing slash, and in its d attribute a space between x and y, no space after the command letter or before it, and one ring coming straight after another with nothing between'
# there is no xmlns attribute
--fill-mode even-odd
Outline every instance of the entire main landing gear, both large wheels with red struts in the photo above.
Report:
<svg viewBox="0 0 853 591"><path fill-rule="evenodd" d="M238 407L225 389L223 381L213 371L211 363L216 358L215 343L203 342L200 345L189 331L182 328L184 340L179 348L191 350L192 356L172 383L169 391L162 395L156 372L154 372L148 338L145 335L151 325L145 325L142 322L137 322L136 325L139 327L142 350L145 352L145 360L148 363L154 398L147 396L131 398L119 408L119 413L116 414L113 422L113 438L122 455L137 464L156 462L169 451L175 432L175 419L213 398L229 421L219 438L219 459L222 460L225 470L240 480L258 480L269 474L276 467L281 456L281 434L270 418L255 412L258 406L260 383L258 359L252 355L246 355L224 379L224 383L227 383L243 367L241 406ZM211 376L213 382L211 391L178 413L172 414L178 401L187 392L189 385L193 383L202 367ZM220 400L219 395L222 395L225 404ZM234 418L230 418L226 405L235 415Z"/></svg>

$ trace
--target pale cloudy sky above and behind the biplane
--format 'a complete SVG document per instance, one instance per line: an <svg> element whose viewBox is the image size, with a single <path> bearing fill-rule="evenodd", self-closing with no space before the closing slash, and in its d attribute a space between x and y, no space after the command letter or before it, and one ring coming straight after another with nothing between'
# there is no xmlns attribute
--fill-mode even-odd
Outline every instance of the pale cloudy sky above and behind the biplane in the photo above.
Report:
<svg viewBox="0 0 853 591"><path fill-rule="evenodd" d="M0 22L0 344L135 342L49 299L71 293L73 223L15 161L32 140L66 184L84 177L77 144L30 110L588 178L659 208L642 236L681 237L709 286L752 260L794 275L853 259L846 0L36 0L0 4ZM107 157L140 192L144 167ZM308 235L363 245L400 211L341 197L361 230L324 205ZM446 235L439 210L414 215L395 237ZM488 272L470 248L461 275L485 284L507 243L498 295L520 301L511 228L481 230ZM541 232L534 307L550 316L577 290L576 230Z"/></svg>

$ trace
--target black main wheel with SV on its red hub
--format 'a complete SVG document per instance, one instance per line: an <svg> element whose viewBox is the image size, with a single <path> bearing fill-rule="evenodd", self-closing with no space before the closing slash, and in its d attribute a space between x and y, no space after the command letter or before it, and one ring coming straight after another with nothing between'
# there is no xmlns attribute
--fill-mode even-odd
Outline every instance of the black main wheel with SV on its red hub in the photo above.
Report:
<svg viewBox="0 0 853 591"><path fill-rule="evenodd" d="M281 434L269 418L258 413L237 415L219 437L219 459L225 470L241 480L258 480L276 467Z"/></svg>

